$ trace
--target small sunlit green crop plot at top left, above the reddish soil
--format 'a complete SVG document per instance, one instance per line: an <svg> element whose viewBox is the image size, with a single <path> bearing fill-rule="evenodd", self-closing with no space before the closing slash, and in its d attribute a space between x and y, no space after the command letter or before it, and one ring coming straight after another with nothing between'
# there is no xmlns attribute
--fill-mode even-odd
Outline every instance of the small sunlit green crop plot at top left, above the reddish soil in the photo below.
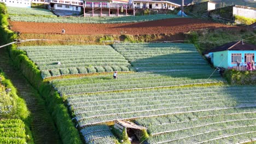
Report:
<svg viewBox="0 0 256 144"><path fill-rule="evenodd" d="M10 16L43 16L43 17L57 17L50 10L46 9L34 9L34 8L18 8L7 7L7 12ZM37 19L37 17L33 17Z"/></svg>

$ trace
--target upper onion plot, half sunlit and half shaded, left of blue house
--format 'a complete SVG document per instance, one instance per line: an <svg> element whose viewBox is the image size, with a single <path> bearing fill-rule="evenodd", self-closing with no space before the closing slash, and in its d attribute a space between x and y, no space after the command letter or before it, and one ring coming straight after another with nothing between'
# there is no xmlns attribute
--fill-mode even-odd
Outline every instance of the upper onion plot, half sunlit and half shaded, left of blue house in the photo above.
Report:
<svg viewBox="0 0 256 144"><path fill-rule="evenodd" d="M114 44L137 71L210 69L194 45L173 43Z"/></svg>

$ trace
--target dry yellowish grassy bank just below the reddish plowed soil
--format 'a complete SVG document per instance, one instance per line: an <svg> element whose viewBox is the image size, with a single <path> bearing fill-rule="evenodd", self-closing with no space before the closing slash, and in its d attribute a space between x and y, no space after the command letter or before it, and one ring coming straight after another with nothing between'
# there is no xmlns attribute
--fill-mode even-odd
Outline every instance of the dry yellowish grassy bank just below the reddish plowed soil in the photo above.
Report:
<svg viewBox="0 0 256 144"><path fill-rule="evenodd" d="M33 45L103 45L104 40L118 40L130 43L143 43L152 41L172 41L184 40L185 36L182 33L175 35L167 34L147 34L147 35L61 35L61 34L21 34L20 39L49 39L49 41L27 41L20 43L19 46Z"/></svg>

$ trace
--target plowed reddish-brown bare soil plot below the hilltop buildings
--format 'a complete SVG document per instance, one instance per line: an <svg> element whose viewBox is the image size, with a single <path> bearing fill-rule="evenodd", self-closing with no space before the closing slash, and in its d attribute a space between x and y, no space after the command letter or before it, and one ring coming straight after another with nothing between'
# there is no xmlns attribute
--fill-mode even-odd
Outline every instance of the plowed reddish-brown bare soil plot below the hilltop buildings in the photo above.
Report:
<svg viewBox="0 0 256 144"><path fill-rule="evenodd" d="M202 28L234 27L199 19L166 19L139 23L36 23L10 22L12 30L21 33L61 34L176 34Z"/></svg>

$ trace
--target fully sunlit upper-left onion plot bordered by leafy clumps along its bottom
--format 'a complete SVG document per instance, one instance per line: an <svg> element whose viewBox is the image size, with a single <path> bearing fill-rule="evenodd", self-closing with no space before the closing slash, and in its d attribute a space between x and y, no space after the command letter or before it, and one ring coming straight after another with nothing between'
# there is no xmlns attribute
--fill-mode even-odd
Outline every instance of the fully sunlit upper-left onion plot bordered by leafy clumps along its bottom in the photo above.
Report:
<svg viewBox="0 0 256 144"><path fill-rule="evenodd" d="M42 77L129 71L130 63L110 46L22 46Z"/></svg>

